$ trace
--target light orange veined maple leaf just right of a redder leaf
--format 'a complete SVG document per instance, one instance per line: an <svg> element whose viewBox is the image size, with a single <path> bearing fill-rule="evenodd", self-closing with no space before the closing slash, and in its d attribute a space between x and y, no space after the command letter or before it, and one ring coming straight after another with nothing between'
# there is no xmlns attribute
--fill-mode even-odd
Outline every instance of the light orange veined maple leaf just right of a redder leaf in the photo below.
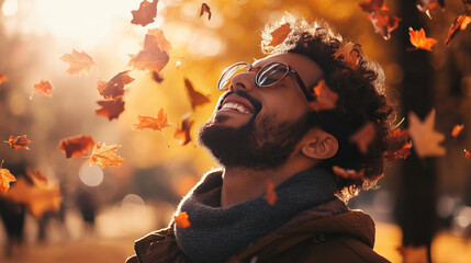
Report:
<svg viewBox="0 0 471 263"><path fill-rule="evenodd" d="M101 169L111 165L121 167L121 162L123 162L124 159L116 156L116 150L120 147L120 145L106 146L104 142L102 145L98 142L91 150L89 159L90 167L93 164L99 164Z"/></svg>

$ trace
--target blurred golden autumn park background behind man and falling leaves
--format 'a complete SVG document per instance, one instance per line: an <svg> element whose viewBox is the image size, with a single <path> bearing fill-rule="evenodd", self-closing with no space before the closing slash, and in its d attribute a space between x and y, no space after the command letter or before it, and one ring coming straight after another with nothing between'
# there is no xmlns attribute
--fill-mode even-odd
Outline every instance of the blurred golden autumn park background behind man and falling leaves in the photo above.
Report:
<svg viewBox="0 0 471 263"><path fill-rule="evenodd" d="M411 169L404 163L407 160L395 160L379 190L361 193L349 203L377 221L375 250L401 262L400 245L431 242L434 262L470 262L471 160L463 155L463 149L471 148L467 128L471 127L470 30L459 33L449 46L444 44L463 4L446 1L446 8L434 10L429 19L417 11L414 1L386 1L390 12L402 21L391 39L384 41L358 7L360 2L210 0L205 2L212 12L208 20L206 14L199 16L201 1L160 0L156 21L141 26L131 23L131 11L138 9L139 0L0 0L0 75L7 77L0 83L0 140L27 135L32 141L30 150L12 150L2 144L0 159L16 178L29 168L40 170L61 194L60 208L46 209L41 216L0 196L0 261L123 262L134 253L135 239L165 227L181 196L216 168L194 138L216 104L221 71L236 61L261 58L265 23L288 11L325 20L338 33L361 43L368 57L384 68L397 123L416 104L422 117L431 107L437 110L436 129L446 135L447 155L416 161L426 167L425 173ZM413 25L414 30L425 27L427 36L438 39L431 53L406 52L412 47L408 26ZM97 116L101 100L97 80L109 81L131 69L128 55L142 49L144 35L155 27L164 31L172 46L170 60L159 73L164 81L155 81L147 71L130 71L135 80L125 88L125 111L113 121ZM60 57L72 49L93 58L96 67L89 75L65 72L68 64ZM407 59L414 56L420 56L425 66L411 69ZM192 111L184 78L211 103ZM411 93L410 80L417 79L426 90ZM34 94L30 99L41 80L54 87L52 98ZM156 116L160 107L173 126L162 133L132 129L137 114ZM193 140L179 146L173 133L189 112L195 122ZM451 138L456 124L466 128ZM66 159L57 149L59 141L80 134L121 145L122 165L101 169L89 167L87 158ZM427 213L404 208L415 197L425 202L418 204L428 207ZM429 227L420 232L407 225L411 218L424 217Z"/></svg>

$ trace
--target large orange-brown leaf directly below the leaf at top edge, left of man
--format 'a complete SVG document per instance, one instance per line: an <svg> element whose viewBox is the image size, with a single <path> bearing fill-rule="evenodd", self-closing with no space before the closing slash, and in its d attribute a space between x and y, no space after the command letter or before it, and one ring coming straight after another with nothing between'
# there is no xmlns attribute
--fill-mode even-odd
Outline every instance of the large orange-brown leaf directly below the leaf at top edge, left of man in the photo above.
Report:
<svg viewBox="0 0 471 263"><path fill-rule="evenodd" d="M150 70L160 72L167 66L169 46L166 45L164 33L156 35L156 31L150 31L144 38L144 49L137 55L130 55L130 66L134 69ZM154 34L153 34L154 33ZM167 50L166 50L167 49Z"/></svg>

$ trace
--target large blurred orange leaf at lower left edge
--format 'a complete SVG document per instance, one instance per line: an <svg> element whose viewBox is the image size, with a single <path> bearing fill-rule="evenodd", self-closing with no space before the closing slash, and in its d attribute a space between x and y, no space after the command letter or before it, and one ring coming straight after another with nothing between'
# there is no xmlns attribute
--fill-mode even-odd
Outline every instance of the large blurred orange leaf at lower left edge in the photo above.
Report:
<svg viewBox="0 0 471 263"><path fill-rule="evenodd" d="M49 210L59 210L61 202L59 186L51 185L34 176L31 179L33 184L30 184L24 178L19 178L4 197L26 205L35 218L40 218Z"/></svg>

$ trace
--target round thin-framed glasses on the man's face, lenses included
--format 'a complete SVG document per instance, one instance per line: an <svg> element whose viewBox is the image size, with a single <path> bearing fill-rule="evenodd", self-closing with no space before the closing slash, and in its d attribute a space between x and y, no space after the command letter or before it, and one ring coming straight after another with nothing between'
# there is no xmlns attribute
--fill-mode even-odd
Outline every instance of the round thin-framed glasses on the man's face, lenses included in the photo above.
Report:
<svg viewBox="0 0 471 263"><path fill-rule="evenodd" d="M254 66L249 62L236 62L224 69L220 81L217 82L217 89L221 91L227 90L231 87L231 80L234 78L234 76L256 70L258 69L254 68ZM314 100L313 92L307 90L298 71L291 69L290 65L284 62L269 62L261 67L255 76L255 83L257 87L273 87L289 75L294 76L298 85L306 96L307 101Z"/></svg>

